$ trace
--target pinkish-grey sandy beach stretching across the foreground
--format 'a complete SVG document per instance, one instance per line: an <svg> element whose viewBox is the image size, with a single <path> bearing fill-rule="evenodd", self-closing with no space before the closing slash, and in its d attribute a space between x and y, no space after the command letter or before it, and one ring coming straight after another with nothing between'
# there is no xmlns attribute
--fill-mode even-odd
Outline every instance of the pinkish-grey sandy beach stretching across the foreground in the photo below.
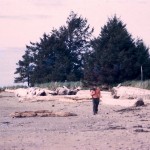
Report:
<svg viewBox="0 0 150 150"><path fill-rule="evenodd" d="M0 150L150 150L150 105L114 100L102 92L99 113L92 102L23 102L0 93ZM71 117L11 118L15 111L67 111Z"/></svg>

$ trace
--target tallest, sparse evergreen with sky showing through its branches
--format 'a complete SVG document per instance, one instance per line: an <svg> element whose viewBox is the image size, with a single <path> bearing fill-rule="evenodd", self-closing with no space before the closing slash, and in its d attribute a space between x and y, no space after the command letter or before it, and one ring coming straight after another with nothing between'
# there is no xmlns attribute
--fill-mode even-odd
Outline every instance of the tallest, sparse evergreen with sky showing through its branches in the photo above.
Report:
<svg viewBox="0 0 150 150"><path fill-rule="evenodd" d="M87 19L71 12L67 19L66 46L70 51L71 70L67 80L83 79L84 55L90 50L90 40L94 29L90 29Z"/></svg>

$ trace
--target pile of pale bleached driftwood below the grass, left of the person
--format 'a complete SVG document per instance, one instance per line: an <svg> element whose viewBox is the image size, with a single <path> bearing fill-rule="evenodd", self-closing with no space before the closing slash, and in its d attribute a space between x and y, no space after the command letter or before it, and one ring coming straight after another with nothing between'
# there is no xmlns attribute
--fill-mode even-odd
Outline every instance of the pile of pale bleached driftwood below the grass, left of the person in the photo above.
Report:
<svg viewBox="0 0 150 150"><path fill-rule="evenodd" d="M6 92L13 92L15 96L19 99L19 102L24 101L53 101L53 100L78 100L80 98L71 96L76 96L76 94L81 91L80 87L69 89L65 86L58 87L56 90L52 91L46 88L38 88L38 87L31 87L31 88L19 88L16 90L6 90ZM68 97L66 97L68 96ZM82 99L82 98L81 98Z"/></svg>

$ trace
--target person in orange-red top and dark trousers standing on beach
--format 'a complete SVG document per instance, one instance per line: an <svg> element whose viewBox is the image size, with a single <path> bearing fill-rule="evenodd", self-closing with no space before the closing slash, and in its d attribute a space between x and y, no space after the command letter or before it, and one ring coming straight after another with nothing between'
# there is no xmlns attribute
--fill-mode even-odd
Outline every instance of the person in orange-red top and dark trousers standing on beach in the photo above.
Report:
<svg viewBox="0 0 150 150"><path fill-rule="evenodd" d="M94 86L92 89L90 89L90 94L93 102L93 115L96 115L98 113L98 105L101 97L100 88Z"/></svg>

